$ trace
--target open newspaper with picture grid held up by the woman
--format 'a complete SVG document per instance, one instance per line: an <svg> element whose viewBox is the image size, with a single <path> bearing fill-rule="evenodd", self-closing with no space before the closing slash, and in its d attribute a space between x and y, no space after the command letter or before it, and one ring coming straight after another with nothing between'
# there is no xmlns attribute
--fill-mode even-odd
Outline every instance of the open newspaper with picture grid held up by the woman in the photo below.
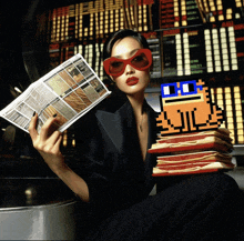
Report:
<svg viewBox="0 0 244 241"><path fill-rule="evenodd" d="M35 111L39 117L37 130L40 132L49 117L57 114L58 129L63 132L110 93L78 53L31 83L0 111L0 117L29 132L29 123Z"/></svg>

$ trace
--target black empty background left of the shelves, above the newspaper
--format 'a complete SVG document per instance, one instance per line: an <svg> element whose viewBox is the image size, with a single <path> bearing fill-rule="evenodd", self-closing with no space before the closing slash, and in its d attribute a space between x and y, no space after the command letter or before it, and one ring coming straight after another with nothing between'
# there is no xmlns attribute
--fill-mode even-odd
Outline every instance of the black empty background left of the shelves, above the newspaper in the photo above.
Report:
<svg viewBox="0 0 244 241"><path fill-rule="evenodd" d="M0 109L50 70L49 10L81 0L6 0L0 3Z"/></svg>

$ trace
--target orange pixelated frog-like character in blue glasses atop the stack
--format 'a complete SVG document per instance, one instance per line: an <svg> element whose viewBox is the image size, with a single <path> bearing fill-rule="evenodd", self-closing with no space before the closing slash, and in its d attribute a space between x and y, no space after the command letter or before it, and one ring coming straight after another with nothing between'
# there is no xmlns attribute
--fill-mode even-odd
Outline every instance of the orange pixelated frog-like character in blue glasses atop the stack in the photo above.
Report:
<svg viewBox="0 0 244 241"><path fill-rule="evenodd" d="M157 117L161 134L217 129L224 121L221 108L211 101L202 80L161 84L162 112Z"/></svg>

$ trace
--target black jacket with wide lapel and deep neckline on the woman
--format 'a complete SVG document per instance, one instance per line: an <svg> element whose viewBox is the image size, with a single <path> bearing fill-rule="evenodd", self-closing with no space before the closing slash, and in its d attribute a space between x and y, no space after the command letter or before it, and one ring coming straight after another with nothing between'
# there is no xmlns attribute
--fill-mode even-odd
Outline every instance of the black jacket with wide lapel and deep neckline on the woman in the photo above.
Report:
<svg viewBox="0 0 244 241"><path fill-rule="evenodd" d="M150 148L156 139L155 112L145 102ZM89 187L92 215L104 219L146 198L154 185L155 157L143 162L135 117L128 98L109 98L75 123L77 158L71 168Z"/></svg>

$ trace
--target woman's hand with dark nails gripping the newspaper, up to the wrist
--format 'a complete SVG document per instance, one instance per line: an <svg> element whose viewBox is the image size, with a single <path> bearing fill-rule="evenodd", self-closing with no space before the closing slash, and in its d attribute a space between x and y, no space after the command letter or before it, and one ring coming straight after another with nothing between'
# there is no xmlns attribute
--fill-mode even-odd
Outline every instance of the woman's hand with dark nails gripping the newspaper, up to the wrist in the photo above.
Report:
<svg viewBox="0 0 244 241"><path fill-rule="evenodd" d="M60 151L62 133L54 128L55 118L49 118L41 128L40 134L37 131L38 114L35 113L30 122L29 132L33 147L39 151L50 169L57 173L65 167L64 158Z"/></svg>

